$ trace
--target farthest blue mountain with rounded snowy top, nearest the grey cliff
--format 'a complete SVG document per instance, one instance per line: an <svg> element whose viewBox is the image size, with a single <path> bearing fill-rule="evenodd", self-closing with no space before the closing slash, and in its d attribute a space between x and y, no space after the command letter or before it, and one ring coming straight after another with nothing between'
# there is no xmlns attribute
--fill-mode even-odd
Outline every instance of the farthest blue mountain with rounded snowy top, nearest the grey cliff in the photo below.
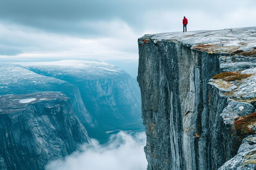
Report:
<svg viewBox="0 0 256 170"><path fill-rule="evenodd" d="M115 65L96 61L63 60L15 63L37 74L58 78L76 85L89 113L101 131L92 137L104 137L116 129L141 130L141 100L134 78Z"/></svg>

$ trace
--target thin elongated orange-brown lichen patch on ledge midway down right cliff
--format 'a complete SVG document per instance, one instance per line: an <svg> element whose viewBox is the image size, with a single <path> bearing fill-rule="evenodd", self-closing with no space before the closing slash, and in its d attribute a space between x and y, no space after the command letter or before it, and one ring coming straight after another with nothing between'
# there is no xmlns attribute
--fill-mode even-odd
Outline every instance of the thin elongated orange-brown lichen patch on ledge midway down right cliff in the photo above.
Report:
<svg viewBox="0 0 256 170"><path fill-rule="evenodd" d="M245 78L248 78L249 76L252 76L253 74L241 74L241 72L223 72L220 74L216 74L213 76L213 79L223 79L225 81L238 81Z"/></svg>

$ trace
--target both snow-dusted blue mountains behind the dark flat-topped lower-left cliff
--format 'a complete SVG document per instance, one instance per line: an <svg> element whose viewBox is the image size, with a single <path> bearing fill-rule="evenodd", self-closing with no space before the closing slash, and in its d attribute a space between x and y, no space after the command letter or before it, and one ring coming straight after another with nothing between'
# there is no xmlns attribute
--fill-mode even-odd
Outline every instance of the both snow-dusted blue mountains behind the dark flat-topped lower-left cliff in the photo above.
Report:
<svg viewBox="0 0 256 170"><path fill-rule="evenodd" d="M12 71L0 75L0 82L9 77L8 88L0 88L0 94L61 91L71 98L74 112L90 137L106 141L109 136L106 131L143 129L138 84L115 65L63 60L10 63L1 68ZM12 83L14 77L19 85Z"/></svg>

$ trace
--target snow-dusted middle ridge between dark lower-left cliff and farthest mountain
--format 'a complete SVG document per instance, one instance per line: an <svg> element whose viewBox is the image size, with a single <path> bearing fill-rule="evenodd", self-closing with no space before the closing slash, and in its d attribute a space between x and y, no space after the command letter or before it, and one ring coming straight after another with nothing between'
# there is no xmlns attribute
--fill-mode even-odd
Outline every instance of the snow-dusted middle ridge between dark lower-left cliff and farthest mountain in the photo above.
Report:
<svg viewBox="0 0 256 170"><path fill-rule="evenodd" d="M66 81L42 76L11 63L0 63L0 95L30 94L35 92L62 92L71 98L74 113L89 131L97 122L85 108L79 89Z"/></svg>

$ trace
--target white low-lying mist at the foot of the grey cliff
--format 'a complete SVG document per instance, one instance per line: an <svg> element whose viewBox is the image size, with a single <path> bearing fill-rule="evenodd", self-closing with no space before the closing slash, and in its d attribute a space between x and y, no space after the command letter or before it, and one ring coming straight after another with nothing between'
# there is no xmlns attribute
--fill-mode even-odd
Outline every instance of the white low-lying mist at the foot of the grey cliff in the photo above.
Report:
<svg viewBox="0 0 256 170"><path fill-rule="evenodd" d="M92 139L81 147L82 152L50 162L46 170L146 170L145 145L145 133L132 136L120 132L104 145Z"/></svg>

